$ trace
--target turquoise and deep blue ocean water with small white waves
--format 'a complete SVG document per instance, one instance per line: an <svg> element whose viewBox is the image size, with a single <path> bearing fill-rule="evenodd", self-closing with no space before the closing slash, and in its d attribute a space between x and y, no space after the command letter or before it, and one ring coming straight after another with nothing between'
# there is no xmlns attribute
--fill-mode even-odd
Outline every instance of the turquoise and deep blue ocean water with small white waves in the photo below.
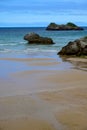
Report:
<svg viewBox="0 0 87 130"><path fill-rule="evenodd" d="M43 37L50 37L54 45L30 45L24 35L35 32ZM51 55L69 41L87 36L87 28L81 31L46 31L44 27L0 28L0 54L27 54L30 56Z"/></svg>

